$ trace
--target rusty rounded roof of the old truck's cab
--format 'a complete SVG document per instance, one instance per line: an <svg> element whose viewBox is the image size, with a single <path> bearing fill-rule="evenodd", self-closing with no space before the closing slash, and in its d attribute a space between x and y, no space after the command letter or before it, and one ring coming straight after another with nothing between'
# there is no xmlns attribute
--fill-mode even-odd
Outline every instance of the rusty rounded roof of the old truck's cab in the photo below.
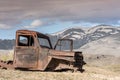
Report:
<svg viewBox="0 0 120 80"><path fill-rule="evenodd" d="M40 32L37 32L37 31L32 31L32 30L17 30L16 33L19 33L19 34L33 34L33 35L36 35L38 37L41 37L41 38L49 38L47 35L43 34L43 33L40 33Z"/></svg>

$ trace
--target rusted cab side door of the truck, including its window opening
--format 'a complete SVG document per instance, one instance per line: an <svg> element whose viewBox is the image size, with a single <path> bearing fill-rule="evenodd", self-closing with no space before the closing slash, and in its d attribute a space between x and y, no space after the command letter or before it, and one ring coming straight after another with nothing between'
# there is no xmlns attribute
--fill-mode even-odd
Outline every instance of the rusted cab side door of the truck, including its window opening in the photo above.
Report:
<svg viewBox="0 0 120 80"><path fill-rule="evenodd" d="M34 68L37 66L38 51L33 35L18 35L15 48L15 66Z"/></svg>

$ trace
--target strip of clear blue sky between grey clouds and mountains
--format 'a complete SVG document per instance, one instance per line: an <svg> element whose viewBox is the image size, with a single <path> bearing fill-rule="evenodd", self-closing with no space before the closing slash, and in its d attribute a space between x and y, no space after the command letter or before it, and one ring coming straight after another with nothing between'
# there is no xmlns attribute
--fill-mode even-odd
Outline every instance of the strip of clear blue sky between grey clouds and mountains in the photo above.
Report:
<svg viewBox="0 0 120 80"><path fill-rule="evenodd" d="M89 26L94 26L96 24L90 24L90 23L72 23L72 22L56 22L55 24L50 24L50 25L44 25L44 26L38 26L36 28L24 28L21 26L30 26L30 22L25 21L23 24L20 25L16 25L16 28L11 28L11 29L1 29L0 30L0 37L1 39L15 39L15 32L16 30L19 29L28 29L28 30L35 30L38 32L42 32L42 33L55 33L61 30L64 30L66 28L71 28L71 27L89 27Z"/></svg>

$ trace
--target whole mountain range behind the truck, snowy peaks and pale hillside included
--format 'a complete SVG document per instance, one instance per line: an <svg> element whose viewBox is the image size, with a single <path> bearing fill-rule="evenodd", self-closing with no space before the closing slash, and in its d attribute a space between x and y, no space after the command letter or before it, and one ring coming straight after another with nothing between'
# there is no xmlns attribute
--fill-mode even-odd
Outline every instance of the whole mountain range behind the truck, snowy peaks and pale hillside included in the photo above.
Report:
<svg viewBox="0 0 120 80"><path fill-rule="evenodd" d="M120 49L120 27L109 25L98 25L92 28L74 27L47 35L53 46L59 38L69 38L73 40L74 50L82 50L86 53L87 51L97 53L97 50L98 53L102 50L115 52L114 50ZM14 42L15 40L0 40L0 49L12 49Z"/></svg>

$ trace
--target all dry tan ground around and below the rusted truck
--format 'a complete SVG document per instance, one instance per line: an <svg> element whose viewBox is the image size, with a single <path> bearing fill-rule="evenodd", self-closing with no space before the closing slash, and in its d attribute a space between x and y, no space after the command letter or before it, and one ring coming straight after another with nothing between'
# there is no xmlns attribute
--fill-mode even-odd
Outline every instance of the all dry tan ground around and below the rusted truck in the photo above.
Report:
<svg viewBox="0 0 120 80"><path fill-rule="evenodd" d="M10 54L1 55L1 59L12 59ZM4 53L5 54L5 53ZM81 72L41 72L0 69L0 80L120 80L120 64L110 62L115 59L108 55L84 54L86 65L85 71ZM120 59L118 58L117 61ZM108 62L108 64L106 64Z"/></svg>

